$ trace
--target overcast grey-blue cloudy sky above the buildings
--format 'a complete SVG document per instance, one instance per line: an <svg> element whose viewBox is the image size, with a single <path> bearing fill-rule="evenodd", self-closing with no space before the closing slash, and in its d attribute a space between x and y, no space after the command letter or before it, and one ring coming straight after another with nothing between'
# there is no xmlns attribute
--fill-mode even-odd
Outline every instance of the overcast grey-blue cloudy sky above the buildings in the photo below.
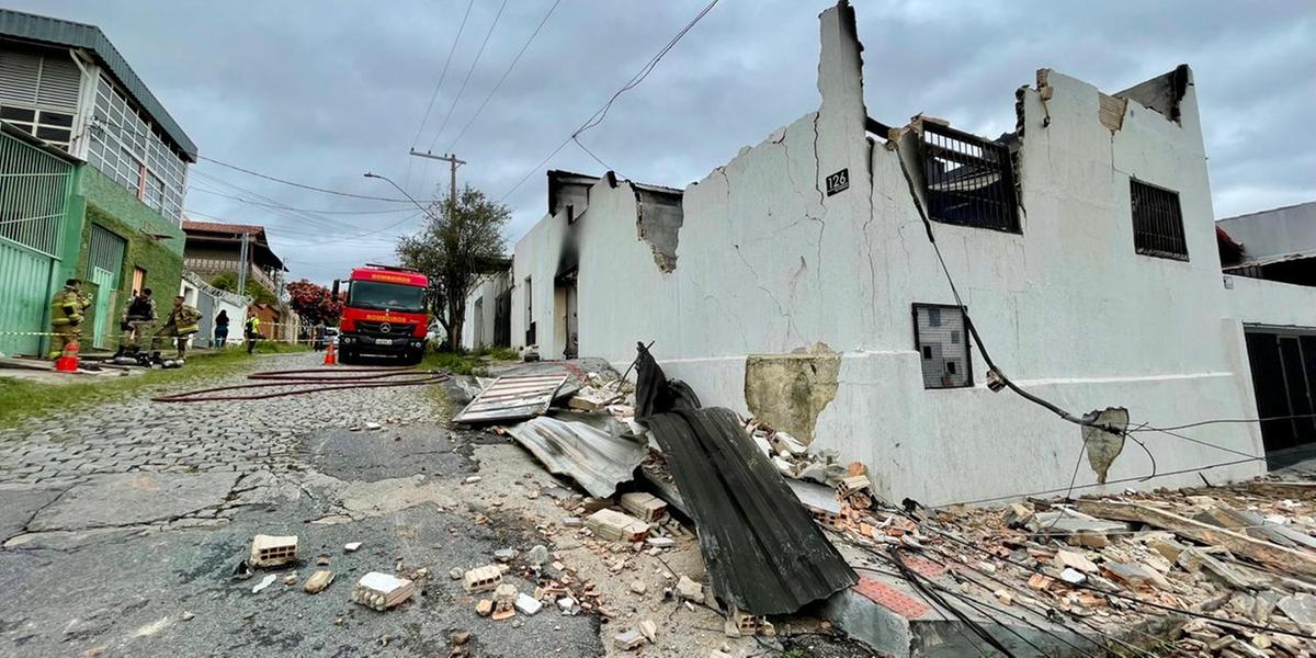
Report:
<svg viewBox="0 0 1316 658"><path fill-rule="evenodd" d="M99 25L201 154L221 162L399 196L387 183L362 178L368 170L426 197L436 184L446 191L446 164L407 150L453 147L468 161L458 170L459 184L505 196L513 208L508 238L515 241L544 216L545 168L604 171L574 145L544 167L536 163L705 0L563 0L455 146L553 0L474 1L418 139L467 0L0 3ZM817 107L817 13L829 4L722 0L582 141L625 178L672 187L703 178L741 146ZM995 137L1013 129L1015 89L1032 84L1037 68L1113 92L1187 62L1216 216L1316 199L1309 0L854 4L874 118L903 124L926 112ZM326 282L366 261L392 262L396 236L420 224L409 204L297 190L208 162L192 167L190 179L191 217L263 224L292 278ZM280 212L221 193L336 213ZM368 215L349 213L361 211Z"/></svg>

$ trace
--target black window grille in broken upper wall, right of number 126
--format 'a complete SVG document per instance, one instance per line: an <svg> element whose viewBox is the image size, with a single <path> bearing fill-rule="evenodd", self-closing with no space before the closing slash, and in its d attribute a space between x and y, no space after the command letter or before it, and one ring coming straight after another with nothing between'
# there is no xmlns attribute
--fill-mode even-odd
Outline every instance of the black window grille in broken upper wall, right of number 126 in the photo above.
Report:
<svg viewBox="0 0 1316 658"><path fill-rule="evenodd" d="M980 229L1019 232L1009 149L940 124L923 124L928 216Z"/></svg>

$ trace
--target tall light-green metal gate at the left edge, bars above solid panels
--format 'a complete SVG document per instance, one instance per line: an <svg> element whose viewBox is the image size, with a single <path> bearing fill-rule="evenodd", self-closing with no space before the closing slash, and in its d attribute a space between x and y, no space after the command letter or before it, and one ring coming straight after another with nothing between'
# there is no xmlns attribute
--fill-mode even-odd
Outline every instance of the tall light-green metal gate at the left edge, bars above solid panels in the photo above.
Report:
<svg viewBox="0 0 1316 658"><path fill-rule="evenodd" d="M41 354L72 163L0 132L0 353Z"/></svg>

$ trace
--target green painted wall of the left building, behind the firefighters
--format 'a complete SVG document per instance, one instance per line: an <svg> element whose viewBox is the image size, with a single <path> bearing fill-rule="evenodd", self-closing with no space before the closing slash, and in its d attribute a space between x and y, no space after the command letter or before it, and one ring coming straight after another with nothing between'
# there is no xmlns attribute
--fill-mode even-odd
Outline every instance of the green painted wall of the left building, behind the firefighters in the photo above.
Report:
<svg viewBox="0 0 1316 658"><path fill-rule="evenodd" d="M87 246L91 241L91 226L96 224L128 241L124 267L118 272L121 292L111 317L121 316L124 307L128 305L134 267L146 270L146 287L155 292L157 307L168 308L168 300L178 295L179 282L183 279L183 229L93 167L83 164L79 170L79 193L84 203L76 205L86 205L86 212L80 222L80 236L75 242L76 268L64 278L89 278ZM72 261L70 258L66 262Z"/></svg>

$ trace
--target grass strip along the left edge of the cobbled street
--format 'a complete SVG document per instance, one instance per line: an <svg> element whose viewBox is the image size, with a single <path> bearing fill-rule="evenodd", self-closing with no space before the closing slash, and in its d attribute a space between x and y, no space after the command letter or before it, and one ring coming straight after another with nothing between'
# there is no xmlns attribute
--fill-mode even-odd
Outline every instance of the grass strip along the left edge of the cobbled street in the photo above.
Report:
<svg viewBox="0 0 1316 658"><path fill-rule="evenodd" d="M304 345L261 343L265 354L307 351ZM12 428L28 417L43 416L55 409L76 409L91 404L107 404L130 395L146 395L153 390L178 390L190 380L228 375L251 367L259 357L247 355L246 349L224 351L195 351L187 365L178 370L151 368L147 372L122 378L96 378L72 384L43 384L11 379L0 371L0 429Z"/></svg>

